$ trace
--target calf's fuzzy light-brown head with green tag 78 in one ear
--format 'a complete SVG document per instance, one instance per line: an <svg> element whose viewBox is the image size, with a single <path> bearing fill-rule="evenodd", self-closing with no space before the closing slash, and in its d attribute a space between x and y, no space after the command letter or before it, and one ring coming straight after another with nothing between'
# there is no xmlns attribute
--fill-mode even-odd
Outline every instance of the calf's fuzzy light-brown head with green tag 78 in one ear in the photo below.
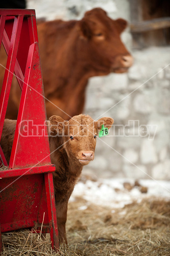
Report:
<svg viewBox="0 0 170 256"><path fill-rule="evenodd" d="M60 116L51 116L49 121L49 136L62 137L63 147L69 159L81 165L87 165L94 159L96 137L102 125L109 129L114 122L110 117L94 121L90 116L83 114L73 116L69 121L64 121Z"/></svg>

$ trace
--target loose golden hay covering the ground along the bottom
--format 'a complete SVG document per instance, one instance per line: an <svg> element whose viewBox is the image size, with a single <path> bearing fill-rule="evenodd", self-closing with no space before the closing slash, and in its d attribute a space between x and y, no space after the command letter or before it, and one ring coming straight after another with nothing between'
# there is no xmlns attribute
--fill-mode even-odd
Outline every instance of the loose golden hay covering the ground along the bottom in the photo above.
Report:
<svg viewBox="0 0 170 256"><path fill-rule="evenodd" d="M69 247L55 253L49 241L21 230L2 235L2 256L170 256L170 202L145 200L115 210L86 203L69 203Z"/></svg>

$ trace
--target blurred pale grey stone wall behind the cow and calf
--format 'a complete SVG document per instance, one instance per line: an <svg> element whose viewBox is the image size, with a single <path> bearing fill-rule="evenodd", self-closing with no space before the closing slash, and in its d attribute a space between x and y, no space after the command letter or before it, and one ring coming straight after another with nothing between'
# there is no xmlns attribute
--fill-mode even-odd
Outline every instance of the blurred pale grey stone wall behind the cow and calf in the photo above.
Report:
<svg viewBox="0 0 170 256"><path fill-rule="evenodd" d="M128 0L28 0L27 7L48 20L80 19L101 7L130 21ZM95 160L84 169L100 177L170 179L170 47L135 51L128 28L122 40L135 60L129 73L89 80L84 113L111 116L115 126L111 137L97 139Z"/></svg>

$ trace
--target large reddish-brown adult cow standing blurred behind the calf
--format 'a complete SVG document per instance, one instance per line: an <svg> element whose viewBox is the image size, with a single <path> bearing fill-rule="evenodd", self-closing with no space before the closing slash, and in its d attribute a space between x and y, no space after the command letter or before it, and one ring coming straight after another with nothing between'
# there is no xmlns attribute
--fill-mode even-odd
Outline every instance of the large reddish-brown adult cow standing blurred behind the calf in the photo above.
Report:
<svg viewBox="0 0 170 256"><path fill-rule="evenodd" d="M127 72L133 58L120 38L126 26L126 20L112 20L101 8L86 12L82 20L37 25L48 118L68 120L82 113L90 77ZM16 119L20 88L12 90L6 117Z"/></svg>

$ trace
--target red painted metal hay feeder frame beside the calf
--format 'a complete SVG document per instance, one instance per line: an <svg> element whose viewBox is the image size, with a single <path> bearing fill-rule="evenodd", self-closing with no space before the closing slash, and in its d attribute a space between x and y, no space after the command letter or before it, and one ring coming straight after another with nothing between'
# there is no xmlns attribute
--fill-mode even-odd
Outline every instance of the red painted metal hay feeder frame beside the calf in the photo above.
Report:
<svg viewBox="0 0 170 256"><path fill-rule="evenodd" d="M1 232L21 228L50 233L52 248L59 247L57 216L37 37L35 10L0 9L0 46L8 55L0 94L0 138L9 100L13 73L22 90L12 153L7 170L0 171L0 251ZM23 136L27 128L41 136ZM0 155L7 166L2 148ZM44 215L45 212L45 215ZM43 219L44 215L44 219Z"/></svg>

